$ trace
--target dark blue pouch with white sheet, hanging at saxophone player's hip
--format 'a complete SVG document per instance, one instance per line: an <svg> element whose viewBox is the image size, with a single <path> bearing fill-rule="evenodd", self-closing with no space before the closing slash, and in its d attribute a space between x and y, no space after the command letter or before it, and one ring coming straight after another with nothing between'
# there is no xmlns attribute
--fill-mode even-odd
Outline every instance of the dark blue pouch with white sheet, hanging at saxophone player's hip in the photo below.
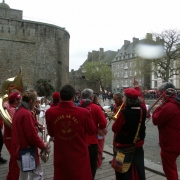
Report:
<svg viewBox="0 0 180 180"><path fill-rule="evenodd" d="M36 169L36 158L34 146L26 149L20 149L21 170L23 172L33 171Z"/></svg>

